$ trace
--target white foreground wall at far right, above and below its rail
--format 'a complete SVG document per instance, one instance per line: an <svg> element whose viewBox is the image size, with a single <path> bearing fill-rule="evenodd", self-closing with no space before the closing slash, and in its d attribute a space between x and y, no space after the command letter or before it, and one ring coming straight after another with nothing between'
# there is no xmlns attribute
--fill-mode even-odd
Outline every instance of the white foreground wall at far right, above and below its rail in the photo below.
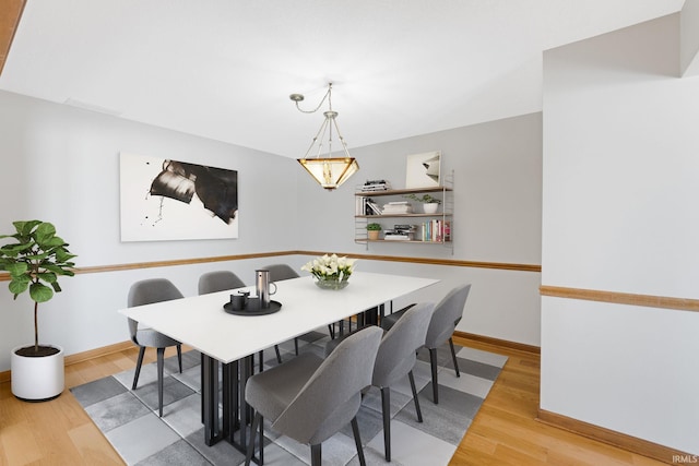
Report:
<svg viewBox="0 0 699 466"><path fill-rule="evenodd" d="M679 15L544 57L542 284L697 299L699 80ZM541 407L699 453L699 313L542 299Z"/></svg>

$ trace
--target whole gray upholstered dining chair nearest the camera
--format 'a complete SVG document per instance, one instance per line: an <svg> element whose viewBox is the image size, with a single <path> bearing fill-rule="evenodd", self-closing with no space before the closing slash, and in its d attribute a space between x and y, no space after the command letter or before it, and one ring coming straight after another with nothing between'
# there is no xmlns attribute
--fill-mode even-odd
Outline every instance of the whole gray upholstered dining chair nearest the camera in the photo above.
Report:
<svg viewBox="0 0 699 466"><path fill-rule="evenodd" d="M300 356L251 377L246 402L256 410L246 466L254 453L258 427L266 418L271 428L297 442L309 444L311 465L321 464L321 444L352 423L359 464L365 465L357 411L362 390L371 383L374 362L383 332L366 327L345 338L323 359L313 353ZM260 463L262 463L260 445Z"/></svg>

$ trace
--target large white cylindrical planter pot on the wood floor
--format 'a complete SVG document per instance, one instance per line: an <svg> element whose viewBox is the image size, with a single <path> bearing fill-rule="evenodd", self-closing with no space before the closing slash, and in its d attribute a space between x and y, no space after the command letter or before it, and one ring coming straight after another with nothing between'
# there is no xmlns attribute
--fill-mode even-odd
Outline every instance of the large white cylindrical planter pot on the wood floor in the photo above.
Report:
<svg viewBox="0 0 699 466"><path fill-rule="evenodd" d="M64 387L63 348L52 346L59 351L51 356L26 357L15 351L29 345L12 349L10 359L10 377L12 394L20 399L42 402L57 397Z"/></svg>

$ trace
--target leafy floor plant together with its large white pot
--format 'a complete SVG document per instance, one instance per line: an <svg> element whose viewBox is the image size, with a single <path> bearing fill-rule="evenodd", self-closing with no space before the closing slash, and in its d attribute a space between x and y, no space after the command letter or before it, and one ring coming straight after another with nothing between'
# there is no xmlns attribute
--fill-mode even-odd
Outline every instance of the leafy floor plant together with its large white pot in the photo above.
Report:
<svg viewBox="0 0 699 466"><path fill-rule="evenodd" d="M75 258L68 243L56 236L54 225L42 220L13 222L15 242L0 247L0 270L10 274L10 292L17 298L29 291L34 301L34 344L11 354L12 393L25 401L45 401L63 391L63 349L39 343L38 306L61 290L59 276L73 276Z"/></svg>

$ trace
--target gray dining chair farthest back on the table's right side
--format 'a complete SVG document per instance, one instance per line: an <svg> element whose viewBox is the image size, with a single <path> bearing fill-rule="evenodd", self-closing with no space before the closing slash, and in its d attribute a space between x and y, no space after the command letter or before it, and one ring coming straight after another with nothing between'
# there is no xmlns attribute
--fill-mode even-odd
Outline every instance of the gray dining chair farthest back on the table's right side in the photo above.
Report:
<svg viewBox="0 0 699 466"><path fill-rule="evenodd" d="M466 298L469 298L469 291L471 291L471 284L460 285L451 289L442 299L435 306L435 312L429 322L427 328L427 335L425 337L425 347L429 350L429 363L431 366L433 375L433 401L435 404L439 404L439 384L437 381L437 348L449 342L451 349L451 359L454 363L454 371L457 377L461 377L459 372L459 361L457 360L457 353L454 350L454 342L452 335L457 330L457 325L461 321L463 314L463 308L466 304ZM401 309L398 312L387 315L381 321L383 328L390 328L395 324L403 315L407 308Z"/></svg>

